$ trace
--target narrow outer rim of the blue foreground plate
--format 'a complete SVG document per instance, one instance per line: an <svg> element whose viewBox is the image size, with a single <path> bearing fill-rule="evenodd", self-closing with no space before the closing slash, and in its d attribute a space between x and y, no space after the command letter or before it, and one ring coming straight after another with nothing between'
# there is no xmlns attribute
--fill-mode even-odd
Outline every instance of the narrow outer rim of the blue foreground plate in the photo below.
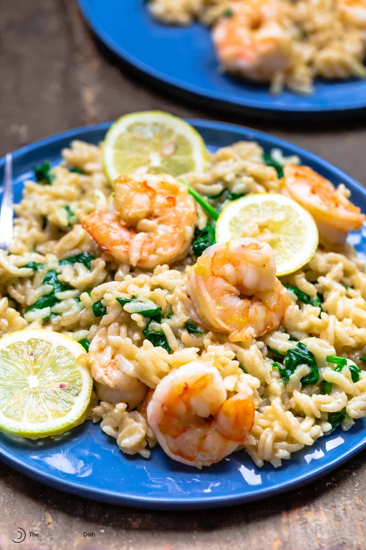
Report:
<svg viewBox="0 0 366 550"><path fill-rule="evenodd" d="M240 130L243 133L243 138L254 139L254 140L265 140L269 146L284 147L285 149L290 149L294 154L299 156L306 155L312 162L316 162L325 169L330 169L337 177L341 178L346 184L351 184L353 188L357 188L363 195L366 197L366 191L361 183L357 182L351 178L350 175L346 174L340 168L335 167L329 161L319 157L316 153L309 152L302 147L291 144L291 142L277 138L270 134L264 133L262 131L254 130L251 128L243 127L238 124L227 124L221 122L215 122L211 120L200 120L200 119L185 119L188 123L195 125L198 128L211 129L213 131L238 131ZM22 155L30 153L37 150L40 147L47 146L50 144L55 144L60 140L72 140L80 134L84 134L87 138L88 133L93 133L93 131L106 131L112 122L104 122L93 125L87 125L83 127L77 127L71 130L66 130L58 134L54 134L33 142L32 144L25 145L20 149L12 153L13 159L19 159ZM245 134L245 136L244 136ZM249 138L250 136L250 138ZM3 166L5 162L5 157L0 159L0 167ZM263 499L273 494L279 494L284 491L290 491L291 489L299 488L311 481L317 480L319 477L328 474L330 471L334 470L336 467L341 466L345 461L352 458L354 455L359 453L363 448L366 447L366 432L364 437L358 442L354 443L351 447L348 447L339 455L335 456L333 459L328 460L324 465L314 466L314 469L307 474L300 474L296 477L291 477L290 480L284 482L275 483L272 486L258 488L255 494L250 494L250 496L240 496L238 493L227 494L223 496L194 496L194 497L184 497L179 498L179 500L174 499L174 497L150 497L140 495L133 495L131 492L123 493L121 491L111 491L110 489L103 489L99 487L94 487L88 483L78 483L73 481L66 481L60 479L59 476L52 473L39 472L36 467L30 466L26 463L25 460L21 459L16 455L16 452L9 452L7 449L4 449L0 443L0 456L1 459L8 465L14 467L15 470L20 471L22 474L35 478L36 480L42 481L47 485L56 487L65 492L70 492L77 494L79 496L92 498L94 500L101 500L103 502L109 502L114 504L126 505L130 504L138 508L159 508L159 509L188 509L191 505L194 505L196 509L198 508L215 508L215 507L226 507L230 505L240 504L243 502L252 502L254 500Z"/></svg>

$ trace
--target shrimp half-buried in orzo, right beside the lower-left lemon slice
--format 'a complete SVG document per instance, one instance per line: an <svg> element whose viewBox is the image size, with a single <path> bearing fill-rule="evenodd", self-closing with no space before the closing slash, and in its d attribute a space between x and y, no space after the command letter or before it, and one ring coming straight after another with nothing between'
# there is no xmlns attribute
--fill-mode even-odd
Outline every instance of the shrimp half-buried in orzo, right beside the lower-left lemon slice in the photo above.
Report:
<svg viewBox="0 0 366 550"><path fill-rule="evenodd" d="M116 360L111 360L108 365L102 366L92 355L89 357L89 364L98 399L108 403L127 403L128 409L134 409L143 401L147 386L138 378L123 372L123 365Z"/></svg>

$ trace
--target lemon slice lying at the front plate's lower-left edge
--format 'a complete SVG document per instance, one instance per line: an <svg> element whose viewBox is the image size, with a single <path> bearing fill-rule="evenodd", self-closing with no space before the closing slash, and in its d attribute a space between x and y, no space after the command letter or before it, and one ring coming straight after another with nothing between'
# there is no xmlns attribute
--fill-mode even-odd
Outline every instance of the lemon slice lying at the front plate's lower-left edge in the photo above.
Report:
<svg viewBox="0 0 366 550"><path fill-rule="evenodd" d="M63 433L83 419L93 378L76 363L81 344L46 330L13 332L0 340L0 430L17 436Z"/></svg>

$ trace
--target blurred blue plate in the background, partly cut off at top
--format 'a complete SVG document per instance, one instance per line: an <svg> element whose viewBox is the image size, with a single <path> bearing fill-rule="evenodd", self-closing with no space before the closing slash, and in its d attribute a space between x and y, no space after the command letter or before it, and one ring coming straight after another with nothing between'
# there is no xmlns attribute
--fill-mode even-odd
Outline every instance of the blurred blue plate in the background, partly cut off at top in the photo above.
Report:
<svg viewBox="0 0 366 550"><path fill-rule="evenodd" d="M285 91L269 94L268 87L235 80L218 69L210 31L195 23L167 26L151 17L145 0L78 0L99 38L118 56L163 83L211 100L211 106L262 113L346 112L366 107L366 81L317 81L312 96Z"/></svg>

